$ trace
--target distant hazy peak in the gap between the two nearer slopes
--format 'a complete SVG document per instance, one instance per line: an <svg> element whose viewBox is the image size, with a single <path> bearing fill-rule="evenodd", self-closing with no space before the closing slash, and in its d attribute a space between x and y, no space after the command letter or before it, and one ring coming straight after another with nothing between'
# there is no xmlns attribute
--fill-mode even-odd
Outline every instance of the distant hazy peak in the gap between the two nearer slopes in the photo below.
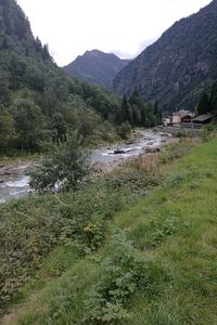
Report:
<svg viewBox="0 0 217 325"><path fill-rule="evenodd" d="M120 60L112 53L92 50L79 55L63 69L72 77L112 89L115 75L129 62L129 60Z"/></svg>

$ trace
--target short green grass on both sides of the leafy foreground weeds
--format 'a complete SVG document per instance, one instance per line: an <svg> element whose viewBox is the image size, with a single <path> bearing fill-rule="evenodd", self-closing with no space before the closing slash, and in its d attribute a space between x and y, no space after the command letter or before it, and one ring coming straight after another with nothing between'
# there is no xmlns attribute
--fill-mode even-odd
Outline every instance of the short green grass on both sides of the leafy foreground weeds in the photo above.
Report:
<svg viewBox="0 0 217 325"><path fill-rule="evenodd" d="M137 289L126 303L131 318L114 324L217 324L216 181L214 139L175 162L158 187L116 216L115 225L126 231L141 255L157 259L168 278ZM81 324L84 299L101 278L97 260L110 253L107 245L79 260L69 247L53 250L40 281L26 287L26 303L3 324ZM62 268L68 271L54 278Z"/></svg>

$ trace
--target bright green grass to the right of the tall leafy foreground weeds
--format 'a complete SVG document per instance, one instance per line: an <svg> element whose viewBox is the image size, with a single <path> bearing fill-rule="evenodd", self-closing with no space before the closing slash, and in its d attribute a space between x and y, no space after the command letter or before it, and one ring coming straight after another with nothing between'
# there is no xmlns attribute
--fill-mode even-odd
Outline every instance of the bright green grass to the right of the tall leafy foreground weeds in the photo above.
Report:
<svg viewBox="0 0 217 325"><path fill-rule="evenodd" d="M159 297L133 299L132 324L217 324L216 158L217 140L197 147L173 167L163 186L117 219L173 275Z"/></svg>

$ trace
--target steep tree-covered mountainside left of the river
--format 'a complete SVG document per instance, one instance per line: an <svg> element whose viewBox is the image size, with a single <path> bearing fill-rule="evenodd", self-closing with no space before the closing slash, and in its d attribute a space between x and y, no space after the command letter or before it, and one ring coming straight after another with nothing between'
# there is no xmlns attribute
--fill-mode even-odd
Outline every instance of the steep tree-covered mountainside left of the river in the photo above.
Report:
<svg viewBox="0 0 217 325"><path fill-rule="evenodd" d="M110 91L69 78L35 39L16 1L0 1L0 152L35 150L71 129L104 136L104 119L115 120L119 104Z"/></svg>

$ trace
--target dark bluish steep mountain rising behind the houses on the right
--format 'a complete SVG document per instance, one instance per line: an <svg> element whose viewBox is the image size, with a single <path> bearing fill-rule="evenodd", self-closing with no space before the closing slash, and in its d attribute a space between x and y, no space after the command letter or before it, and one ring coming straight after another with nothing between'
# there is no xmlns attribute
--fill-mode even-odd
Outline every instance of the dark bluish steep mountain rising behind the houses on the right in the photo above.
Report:
<svg viewBox="0 0 217 325"><path fill-rule="evenodd" d="M114 79L114 89L129 95L137 88L164 110L193 108L217 78L217 0L175 23Z"/></svg>

